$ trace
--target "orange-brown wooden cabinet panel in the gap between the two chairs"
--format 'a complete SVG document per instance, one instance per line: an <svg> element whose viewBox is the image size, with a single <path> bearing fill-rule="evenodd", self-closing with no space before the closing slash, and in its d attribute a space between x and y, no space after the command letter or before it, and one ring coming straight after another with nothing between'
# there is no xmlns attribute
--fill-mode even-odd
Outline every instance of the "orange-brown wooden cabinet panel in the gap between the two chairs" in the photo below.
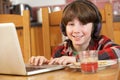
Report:
<svg viewBox="0 0 120 80"><path fill-rule="evenodd" d="M41 26L31 27L31 48L32 56L42 56L43 54L43 39Z"/></svg>

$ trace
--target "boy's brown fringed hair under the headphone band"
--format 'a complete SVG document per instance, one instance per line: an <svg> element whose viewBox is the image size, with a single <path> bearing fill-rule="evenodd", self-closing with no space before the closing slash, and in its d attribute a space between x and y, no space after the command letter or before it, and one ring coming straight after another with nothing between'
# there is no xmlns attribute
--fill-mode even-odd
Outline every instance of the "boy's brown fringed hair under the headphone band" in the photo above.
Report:
<svg viewBox="0 0 120 80"><path fill-rule="evenodd" d="M67 25L67 23L72 21L74 18L78 18L82 24L87 24L89 22L95 22L97 15L92 7L88 7L88 5L78 1L69 4L64 9L62 23Z"/></svg>

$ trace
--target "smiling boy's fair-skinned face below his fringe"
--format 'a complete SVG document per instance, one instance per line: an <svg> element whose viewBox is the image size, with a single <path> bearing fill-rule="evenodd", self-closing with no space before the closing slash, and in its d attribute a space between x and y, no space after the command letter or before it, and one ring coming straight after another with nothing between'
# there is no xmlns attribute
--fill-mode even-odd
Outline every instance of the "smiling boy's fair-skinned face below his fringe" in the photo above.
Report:
<svg viewBox="0 0 120 80"><path fill-rule="evenodd" d="M92 26L93 23L83 25L75 18L73 21L67 23L66 33L74 46L84 46L91 40Z"/></svg>

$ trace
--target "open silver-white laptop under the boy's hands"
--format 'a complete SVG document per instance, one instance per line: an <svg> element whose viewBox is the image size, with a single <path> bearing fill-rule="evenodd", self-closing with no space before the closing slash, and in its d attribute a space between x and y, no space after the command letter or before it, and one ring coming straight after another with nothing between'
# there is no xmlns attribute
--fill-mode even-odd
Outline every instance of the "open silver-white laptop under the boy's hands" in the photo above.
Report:
<svg viewBox="0 0 120 80"><path fill-rule="evenodd" d="M34 75L63 68L62 65L43 65L26 69L15 25L0 23L0 74Z"/></svg>

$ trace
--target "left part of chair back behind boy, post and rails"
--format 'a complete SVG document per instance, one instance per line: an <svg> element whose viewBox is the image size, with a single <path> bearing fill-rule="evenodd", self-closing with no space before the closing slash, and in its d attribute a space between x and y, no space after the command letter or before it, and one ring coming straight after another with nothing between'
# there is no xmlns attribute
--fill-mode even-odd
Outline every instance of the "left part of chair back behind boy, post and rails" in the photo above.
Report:
<svg viewBox="0 0 120 80"><path fill-rule="evenodd" d="M42 8L42 14L43 55L49 59L52 48L62 42L59 28L62 11L49 13L48 8Z"/></svg>

